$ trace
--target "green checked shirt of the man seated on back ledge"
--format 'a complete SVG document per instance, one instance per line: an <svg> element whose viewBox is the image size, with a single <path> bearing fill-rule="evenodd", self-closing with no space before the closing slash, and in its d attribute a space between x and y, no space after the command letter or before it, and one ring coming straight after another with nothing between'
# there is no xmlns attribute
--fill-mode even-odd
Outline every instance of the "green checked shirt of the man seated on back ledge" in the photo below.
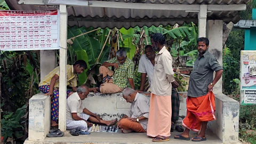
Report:
<svg viewBox="0 0 256 144"><path fill-rule="evenodd" d="M106 61L108 63L119 63L117 58ZM128 78L133 78L134 63L126 58L125 62L121 65L118 64L118 68L115 68L113 76L113 82L122 89L126 88L129 81Z"/></svg>

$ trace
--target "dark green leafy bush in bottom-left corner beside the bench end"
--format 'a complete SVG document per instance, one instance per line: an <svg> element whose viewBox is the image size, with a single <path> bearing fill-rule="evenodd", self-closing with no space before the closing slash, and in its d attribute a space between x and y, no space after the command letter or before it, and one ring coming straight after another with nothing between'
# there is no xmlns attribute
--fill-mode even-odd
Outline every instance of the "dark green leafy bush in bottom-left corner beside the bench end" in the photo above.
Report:
<svg viewBox="0 0 256 144"><path fill-rule="evenodd" d="M8 138L17 139L23 137L23 125L25 120L22 118L26 114L26 105L17 109L15 113L3 112L2 123L2 136L4 137L4 142Z"/></svg>

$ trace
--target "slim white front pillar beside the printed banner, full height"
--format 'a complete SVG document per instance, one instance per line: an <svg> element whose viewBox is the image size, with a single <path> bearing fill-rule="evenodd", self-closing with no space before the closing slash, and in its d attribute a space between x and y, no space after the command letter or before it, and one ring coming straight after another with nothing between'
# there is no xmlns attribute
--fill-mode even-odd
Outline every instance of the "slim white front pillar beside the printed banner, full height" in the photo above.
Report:
<svg viewBox="0 0 256 144"><path fill-rule="evenodd" d="M66 131L67 93L67 5L60 5L60 87L59 87L59 129Z"/></svg>

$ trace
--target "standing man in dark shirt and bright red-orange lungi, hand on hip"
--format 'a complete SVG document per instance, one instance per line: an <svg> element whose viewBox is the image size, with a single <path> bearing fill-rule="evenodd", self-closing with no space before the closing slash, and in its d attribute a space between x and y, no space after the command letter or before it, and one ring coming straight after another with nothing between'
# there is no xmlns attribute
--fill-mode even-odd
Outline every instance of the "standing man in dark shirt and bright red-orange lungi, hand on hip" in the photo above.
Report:
<svg viewBox="0 0 256 144"><path fill-rule="evenodd" d="M200 37L197 39L199 54L189 78L187 116L182 123L186 130L179 135L175 135L174 139L190 140L189 130L195 132L201 130L192 141L205 141L207 122L216 119L214 116L215 97L212 88L219 81L223 69L217 59L209 53L208 48L208 38ZM216 71L214 79L213 71Z"/></svg>

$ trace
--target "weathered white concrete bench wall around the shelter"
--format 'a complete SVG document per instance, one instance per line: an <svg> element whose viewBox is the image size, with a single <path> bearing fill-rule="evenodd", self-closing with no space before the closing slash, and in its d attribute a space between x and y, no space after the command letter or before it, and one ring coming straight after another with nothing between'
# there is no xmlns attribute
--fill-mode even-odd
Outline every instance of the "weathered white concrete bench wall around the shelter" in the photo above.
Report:
<svg viewBox="0 0 256 144"><path fill-rule="evenodd" d="M180 119L186 116L186 92L179 92ZM150 99L150 97L148 97ZM217 121L209 122L210 130L218 136L223 143L238 142L239 102L224 94L215 94ZM83 105L103 119L121 118L130 109L122 97L122 93L100 94L90 93L83 100ZM50 97L36 94L29 100L29 141L44 140L50 129ZM40 137L39 137L40 136Z"/></svg>

